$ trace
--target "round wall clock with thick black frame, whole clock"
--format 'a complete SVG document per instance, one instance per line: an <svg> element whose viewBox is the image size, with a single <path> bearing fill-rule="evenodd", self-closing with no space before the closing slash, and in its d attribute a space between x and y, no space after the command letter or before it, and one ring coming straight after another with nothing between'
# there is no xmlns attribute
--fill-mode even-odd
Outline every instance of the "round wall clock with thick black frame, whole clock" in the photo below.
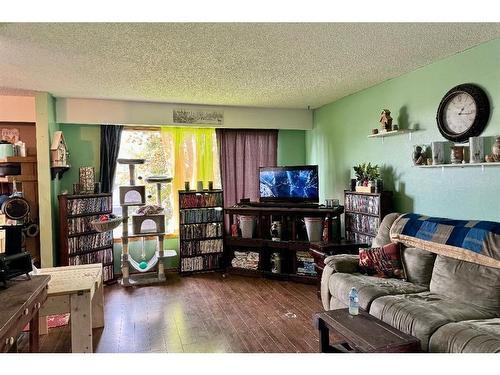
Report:
<svg viewBox="0 0 500 375"><path fill-rule="evenodd" d="M436 120L443 137L465 142L483 132L489 117L490 102L484 90L466 83L453 87L441 99Z"/></svg>

